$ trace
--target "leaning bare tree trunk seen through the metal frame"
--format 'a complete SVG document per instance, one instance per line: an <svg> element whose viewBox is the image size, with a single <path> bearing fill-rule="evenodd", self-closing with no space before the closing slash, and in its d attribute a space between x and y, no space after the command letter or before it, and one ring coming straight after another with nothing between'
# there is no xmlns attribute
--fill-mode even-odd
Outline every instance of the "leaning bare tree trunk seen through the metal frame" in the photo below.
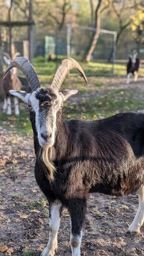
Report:
<svg viewBox="0 0 144 256"><path fill-rule="evenodd" d="M98 5L96 7L96 12L95 12L96 32L92 33L92 37L90 39L88 47L86 48L86 52L84 53L84 59L86 60L86 62L90 62L92 53L94 52L94 49L96 48L96 43L98 42L100 28L101 28L101 3L102 3L102 0L99 0Z"/></svg>

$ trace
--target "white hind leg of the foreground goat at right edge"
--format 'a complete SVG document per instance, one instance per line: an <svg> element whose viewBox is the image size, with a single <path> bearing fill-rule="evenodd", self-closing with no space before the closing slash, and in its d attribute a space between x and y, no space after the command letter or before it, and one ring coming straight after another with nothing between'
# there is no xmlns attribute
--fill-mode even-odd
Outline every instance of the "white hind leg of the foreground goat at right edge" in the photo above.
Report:
<svg viewBox="0 0 144 256"><path fill-rule="evenodd" d="M139 208L135 215L134 221L128 228L130 232L140 232L140 228L144 222L144 185L138 191L139 195Z"/></svg>

